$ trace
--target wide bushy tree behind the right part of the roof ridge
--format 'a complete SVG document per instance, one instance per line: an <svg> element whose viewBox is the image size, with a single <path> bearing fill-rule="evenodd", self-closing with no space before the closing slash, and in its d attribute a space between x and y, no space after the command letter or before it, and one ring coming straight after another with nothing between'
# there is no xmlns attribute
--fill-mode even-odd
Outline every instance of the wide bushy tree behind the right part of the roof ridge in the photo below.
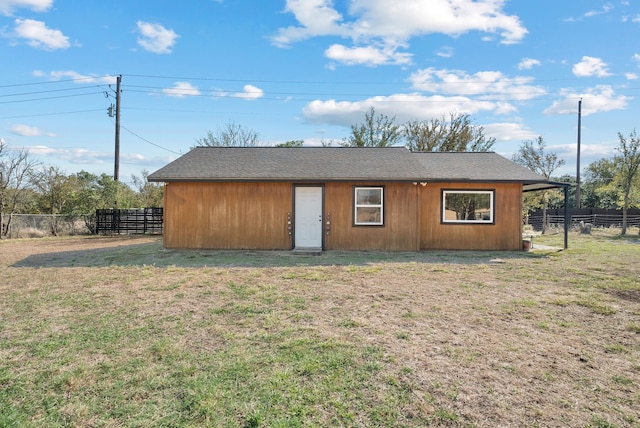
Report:
<svg viewBox="0 0 640 428"><path fill-rule="evenodd" d="M484 135L482 126L474 126L467 114L407 122L402 132L412 152L488 152L496 142Z"/></svg>

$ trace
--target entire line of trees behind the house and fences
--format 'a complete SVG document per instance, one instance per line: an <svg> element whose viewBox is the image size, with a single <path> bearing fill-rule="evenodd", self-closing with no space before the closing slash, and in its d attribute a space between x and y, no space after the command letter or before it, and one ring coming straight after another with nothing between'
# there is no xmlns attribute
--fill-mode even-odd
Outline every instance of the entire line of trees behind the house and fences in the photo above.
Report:
<svg viewBox="0 0 640 428"><path fill-rule="evenodd" d="M640 138L635 129L625 136L618 133L616 154L587 166L581 183L582 206L622 209L626 233L628 208L640 208ZM342 140L323 142L323 146L390 147L404 145L416 152L486 152L495 144L482 126L475 126L467 114L451 113L425 121L396 123L395 117L377 113L373 107L362 123L351 125ZM196 139L197 146L252 147L259 145L257 132L228 122L216 132ZM277 147L302 147L304 140L291 140ZM522 141L512 160L548 180L576 184L573 176L555 176L564 165L556 153L549 152L542 136ZM133 186L107 174L85 171L66 175L55 166L42 165L25 150L10 152L0 140L0 216L11 213L88 214L102 208L139 208L162 205L163 187L149 183L148 173L132 177ZM575 207L575 186L570 188L570 207ZM525 196L525 211L562 208L564 196L557 190ZM1 217L0 217L1 220ZM6 221L3 223L6 225Z"/></svg>

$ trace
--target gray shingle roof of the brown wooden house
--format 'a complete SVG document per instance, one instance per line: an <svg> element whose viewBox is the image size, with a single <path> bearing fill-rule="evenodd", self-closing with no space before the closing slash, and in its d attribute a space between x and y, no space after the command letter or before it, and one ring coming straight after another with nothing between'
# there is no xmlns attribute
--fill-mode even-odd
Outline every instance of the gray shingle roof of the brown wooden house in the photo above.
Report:
<svg viewBox="0 0 640 428"><path fill-rule="evenodd" d="M148 180L546 181L495 153L412 153L404 147L197 147Z"/></svg>

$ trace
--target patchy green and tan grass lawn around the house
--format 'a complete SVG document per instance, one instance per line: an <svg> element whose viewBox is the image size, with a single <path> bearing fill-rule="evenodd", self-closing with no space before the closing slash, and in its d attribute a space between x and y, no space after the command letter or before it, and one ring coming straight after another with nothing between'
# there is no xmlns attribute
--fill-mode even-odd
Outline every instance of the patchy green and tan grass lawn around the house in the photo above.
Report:
<svg viewBox="0 0 640 428"><path fill-rule="evenodd" d="M531 252L0 241L0 427L640 426L640 237Z"/></svg>

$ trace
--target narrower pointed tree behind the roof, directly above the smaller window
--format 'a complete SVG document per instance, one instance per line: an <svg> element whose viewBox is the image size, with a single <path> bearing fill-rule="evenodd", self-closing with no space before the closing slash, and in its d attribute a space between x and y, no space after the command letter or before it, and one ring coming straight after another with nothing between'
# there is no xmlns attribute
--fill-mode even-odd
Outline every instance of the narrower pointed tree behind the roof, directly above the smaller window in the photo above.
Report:
<svg viewBox="0 0 640 428"><path fill-rule="evenodd" d="M347 147L390 147L402 137L401 128L395 124L395 117L376 114L373 107L365 113L364 123L351 125L351 135L346 139Z"/></svg>

